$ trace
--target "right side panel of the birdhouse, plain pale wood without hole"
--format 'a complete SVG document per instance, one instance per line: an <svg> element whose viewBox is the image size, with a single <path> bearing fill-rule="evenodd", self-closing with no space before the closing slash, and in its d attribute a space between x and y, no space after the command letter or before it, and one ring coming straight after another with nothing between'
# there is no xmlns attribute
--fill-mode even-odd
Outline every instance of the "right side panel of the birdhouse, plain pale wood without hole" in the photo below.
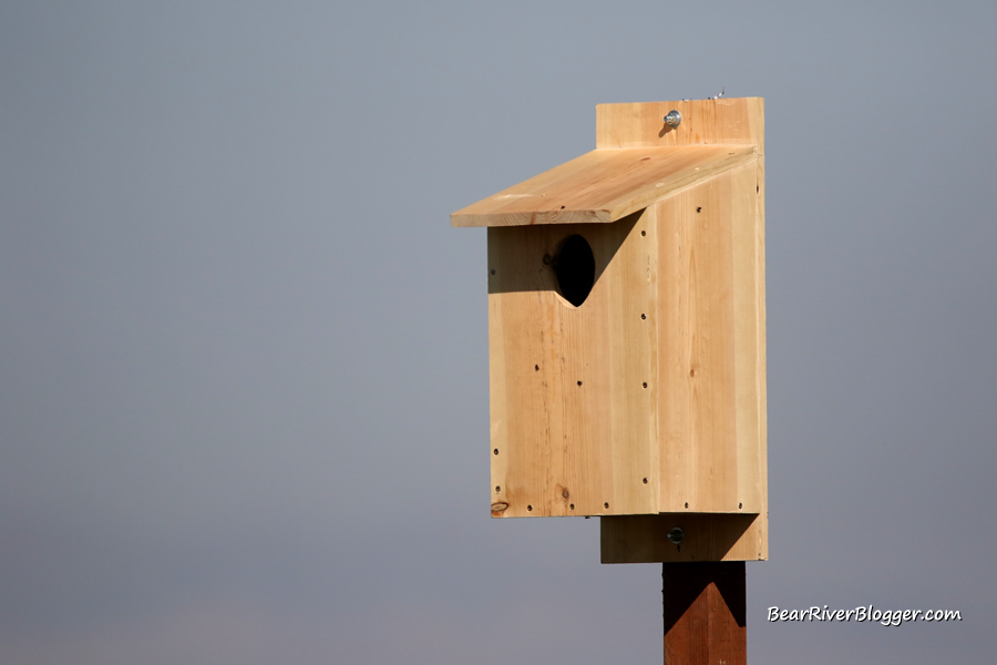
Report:
<svg viewBox="0 0 997 665"><path fill-rule="evenodd" d="M765 509L756 183L750 165L656 206L659 512Z"/></svg>

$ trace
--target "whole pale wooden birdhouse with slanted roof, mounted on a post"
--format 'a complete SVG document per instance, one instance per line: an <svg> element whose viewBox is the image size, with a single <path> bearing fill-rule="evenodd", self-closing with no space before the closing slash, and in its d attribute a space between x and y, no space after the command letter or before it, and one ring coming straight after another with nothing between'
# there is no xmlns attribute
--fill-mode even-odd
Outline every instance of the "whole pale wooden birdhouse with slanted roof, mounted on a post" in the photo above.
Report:
<svg viewBox="0 0 997 665"><path fill-rule="evenodd" d="M768 557L763 100L602 104L487 227L491 510L604 562Z"/></svg>

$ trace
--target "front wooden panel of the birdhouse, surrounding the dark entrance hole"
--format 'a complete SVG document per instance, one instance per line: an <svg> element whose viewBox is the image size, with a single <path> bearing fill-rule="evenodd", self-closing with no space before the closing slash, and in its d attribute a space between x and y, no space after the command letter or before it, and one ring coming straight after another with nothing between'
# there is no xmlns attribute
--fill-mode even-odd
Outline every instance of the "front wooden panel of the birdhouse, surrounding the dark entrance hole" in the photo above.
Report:
<svg viewBox="0 0 997 665"><path fill-rule="evenodd" d="M654 225L489 229L494 516L657 512ZM575 234L596 259L580 307L551 265Z"/></svg>

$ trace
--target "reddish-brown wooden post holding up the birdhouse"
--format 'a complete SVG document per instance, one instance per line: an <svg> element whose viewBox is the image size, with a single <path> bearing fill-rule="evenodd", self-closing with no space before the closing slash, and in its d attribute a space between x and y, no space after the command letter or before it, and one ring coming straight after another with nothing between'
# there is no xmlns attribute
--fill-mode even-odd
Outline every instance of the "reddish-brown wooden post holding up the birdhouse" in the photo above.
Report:
<svg viewBox="0 0 997 665"><path fill-rule="evenodd" d="M661 564L665 665L744 665L744 562Z"/></svg>

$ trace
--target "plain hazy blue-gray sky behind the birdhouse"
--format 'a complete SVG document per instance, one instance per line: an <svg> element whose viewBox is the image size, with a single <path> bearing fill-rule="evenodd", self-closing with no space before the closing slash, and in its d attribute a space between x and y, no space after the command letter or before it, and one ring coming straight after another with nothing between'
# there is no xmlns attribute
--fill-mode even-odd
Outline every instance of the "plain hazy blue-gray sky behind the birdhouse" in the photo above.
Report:
<svg viewBox="0 0 997 665"><path fill-rule="evenodd" d="M0 662L660 662L489 518L485 234L602 102L764 96L756 663L997 649L994 2L0 6ZM769 606L959 623L768 623Z"/></svg>

